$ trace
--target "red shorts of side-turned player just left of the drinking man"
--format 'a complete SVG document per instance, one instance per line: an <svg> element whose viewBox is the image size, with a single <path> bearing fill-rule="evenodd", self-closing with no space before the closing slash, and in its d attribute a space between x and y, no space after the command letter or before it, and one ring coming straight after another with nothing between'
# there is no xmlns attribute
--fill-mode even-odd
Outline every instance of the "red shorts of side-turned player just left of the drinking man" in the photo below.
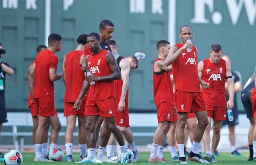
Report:
<svg viewBox="0 0 256 165"><path fill-rule="evenodd" d="M174 112L174 105L169 102L162 101L157 107L157 121L176 122L177 113Z"/></svg>

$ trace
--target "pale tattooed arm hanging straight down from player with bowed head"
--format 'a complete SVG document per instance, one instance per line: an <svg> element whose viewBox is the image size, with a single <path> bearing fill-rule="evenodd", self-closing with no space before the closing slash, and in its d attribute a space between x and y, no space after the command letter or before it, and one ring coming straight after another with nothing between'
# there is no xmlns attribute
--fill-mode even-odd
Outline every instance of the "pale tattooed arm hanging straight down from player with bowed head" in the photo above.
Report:
<svg viewBox="0 0 256 165"><path fill-rule="evenodd" d="M123 112L125 109L125 97L129 88L130 65L127 60L123 59L120 61L119 66L121 68L121 78L123 84L118 109L120 112Z"/></svg>

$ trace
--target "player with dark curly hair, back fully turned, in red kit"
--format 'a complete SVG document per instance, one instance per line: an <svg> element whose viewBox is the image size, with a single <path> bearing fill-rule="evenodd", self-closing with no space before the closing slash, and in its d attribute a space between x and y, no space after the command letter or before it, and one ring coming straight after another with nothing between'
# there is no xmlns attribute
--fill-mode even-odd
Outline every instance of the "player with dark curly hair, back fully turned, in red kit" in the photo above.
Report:
<svg viewBox="0 0 256 165"><path fill-rule="evenodd" d="M86 157L86 128L84 106L87 100L87 95L82 98L81 108L74 109L74 103L79 96L85 75L81 71L80 59L83 58L84 47L87 43L87 35L81 34L76 39L78 46L76 50L66 54L63 60L63 81L66 86L64 94L64 117L67 120L67 129L65 134L65 146L67 151L67 162L74 162L72 156L73 133L76 127L76 118L78 118L78 142L80 148L80 160Z"/></svg>

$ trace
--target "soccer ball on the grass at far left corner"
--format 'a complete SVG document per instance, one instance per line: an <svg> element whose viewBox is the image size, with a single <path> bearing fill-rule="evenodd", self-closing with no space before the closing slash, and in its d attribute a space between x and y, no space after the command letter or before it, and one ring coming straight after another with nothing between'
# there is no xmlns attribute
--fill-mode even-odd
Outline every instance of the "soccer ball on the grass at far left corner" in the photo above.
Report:
<svg viewBox="0 0 256 165"><path fill-rule="evenodd" d="M20 165L23 161L22 155L17 150L7 152L3 159L6 165Z"/></svg>

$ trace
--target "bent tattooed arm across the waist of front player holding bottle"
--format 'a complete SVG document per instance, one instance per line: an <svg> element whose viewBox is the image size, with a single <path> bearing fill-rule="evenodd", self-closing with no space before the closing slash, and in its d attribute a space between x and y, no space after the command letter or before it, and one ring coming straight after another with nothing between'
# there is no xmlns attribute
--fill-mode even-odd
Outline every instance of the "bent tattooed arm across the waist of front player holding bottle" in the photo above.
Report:
<svg viewBox="0 0 256 165"><path fill-rule="evenodd" d="M106 61L108 63L108 66L112 72L112 74L108 75L108 76L94 76L94 75L90 75L87 77L87 80L89 82L91 81L113 81L113 80L118 80L121 78L121 72L120 69L116 63L116 59L113 56L112 53L107 53L106 56Z"/></svg>

